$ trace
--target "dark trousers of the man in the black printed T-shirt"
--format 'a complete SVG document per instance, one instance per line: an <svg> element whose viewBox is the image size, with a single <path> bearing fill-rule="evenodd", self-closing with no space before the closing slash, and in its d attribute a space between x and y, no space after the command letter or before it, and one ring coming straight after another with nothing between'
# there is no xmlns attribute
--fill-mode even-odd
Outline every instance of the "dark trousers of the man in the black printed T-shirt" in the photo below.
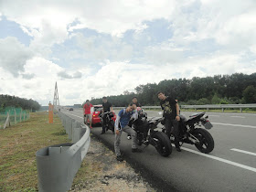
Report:
<svg viewBox="0 0 256 192"><path fill-rule="evenodd" d="M178 129L178 121L176 119L165 119L165 133L167 134L168 138L171 135L171 129L174 127L173 135L175 136L175 144L179 146L179 129Z"/></svg>

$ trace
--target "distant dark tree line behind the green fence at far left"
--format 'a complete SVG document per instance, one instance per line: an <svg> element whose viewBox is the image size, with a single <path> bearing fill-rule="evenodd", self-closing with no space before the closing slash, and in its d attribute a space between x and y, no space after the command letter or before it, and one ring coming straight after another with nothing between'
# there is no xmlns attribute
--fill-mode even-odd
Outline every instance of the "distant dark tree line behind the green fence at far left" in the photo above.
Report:
<svg viewBox="0 0 256 192"><path fill-rule="evenodd" d="M37 111L40 108L40 104L32 99L27 100L11 95L0 95L0 111L5 110L6 107L22 108L23 110Z"/></svg>

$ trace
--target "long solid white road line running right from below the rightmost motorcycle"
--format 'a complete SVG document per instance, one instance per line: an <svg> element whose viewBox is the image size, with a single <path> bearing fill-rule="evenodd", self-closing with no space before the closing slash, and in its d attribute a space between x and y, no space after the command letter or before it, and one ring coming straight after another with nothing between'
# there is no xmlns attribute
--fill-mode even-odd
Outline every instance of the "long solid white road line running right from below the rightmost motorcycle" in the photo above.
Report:
<svg viewBox="0 0 256 192"><path fill-rule="evenodd" d="M174 144L172 144L173 146L175 146ZM254 167L251 167L251 166L248 166L248 165L242 165L242 164L239 164L239 163L236 163L236 162L232 162L232 161L229 161L227 159L223 159L223 158L220 158L220 157L217 157L217 156L214 156L214 155L208 155L208 154L203 154L201 152L197 152L195 150L192 150L192 149L188 149L188 148L185 148L185 147L181 147L181 149L185 150L185 151L188 151L188 152L191 152L191 153L194 153L194 154L197 154L197 155L202 155L202 156L205 156L205 157L208 157L208 158L211 158L211 159L214 159L214 160L217 160L217 161L220 161L220 162L223 162L225 164L229 164L229 165L234 165L234 166L238 166L240 168L243 168L243 169L247 169L249 171L252 171L252 172L255 172L256 173L256 168Z"/></svg>

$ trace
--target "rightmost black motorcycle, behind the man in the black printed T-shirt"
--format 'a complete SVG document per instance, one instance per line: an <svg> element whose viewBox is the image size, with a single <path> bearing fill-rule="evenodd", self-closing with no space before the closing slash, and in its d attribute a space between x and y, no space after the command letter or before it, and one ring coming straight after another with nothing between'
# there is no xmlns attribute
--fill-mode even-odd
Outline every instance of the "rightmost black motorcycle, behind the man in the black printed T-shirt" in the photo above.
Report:
<svg viewBox="0 0 256 192"><path fill-rule="evenodd" d="M210 153L214 148L214 140L206 129L211 129L212 124L208 121L208 115L205 112L195 113L187 120L184 115L180 115L179 122L179 142L180 145L195 144L197 149L205 154ZM163 121L165 124L165 121ZM204 126L206 129L200 128ZM163 128L165 132L165 127ZM174 143L175 137L173 134L173 127L171 130L170 140Z"/></svg>

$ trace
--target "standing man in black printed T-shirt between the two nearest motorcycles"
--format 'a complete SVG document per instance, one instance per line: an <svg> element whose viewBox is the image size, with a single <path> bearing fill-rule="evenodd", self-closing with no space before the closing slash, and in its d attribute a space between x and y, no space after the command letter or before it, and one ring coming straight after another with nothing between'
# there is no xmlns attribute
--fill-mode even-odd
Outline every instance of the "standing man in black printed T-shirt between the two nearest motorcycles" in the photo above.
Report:
<svg viewBox="0 0 256 192"><path fill-rule="evenodd" d="M175 136L175 145L176 151L181 152L179 146L179 130L178 130L178 123L180 121L179 117L179 106L177 102L170 98L166 97L163 91L157 92L157 97L160 100L160 105L162 110L164 110L163 116L165 117L165 130L168 138L170 138L171 128L174 126L174 136Z"/></svg>

